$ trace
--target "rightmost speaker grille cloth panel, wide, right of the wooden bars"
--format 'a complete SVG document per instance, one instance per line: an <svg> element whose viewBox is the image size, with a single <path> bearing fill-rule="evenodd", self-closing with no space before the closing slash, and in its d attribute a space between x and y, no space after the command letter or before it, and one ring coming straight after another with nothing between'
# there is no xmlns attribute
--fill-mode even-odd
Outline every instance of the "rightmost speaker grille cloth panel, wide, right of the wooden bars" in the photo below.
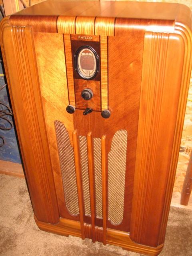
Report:
<svg viewBox="0 0 192 256"><path fill-rule="evenodd" d="M126 172L127 132L118 130L108 154L108 214L112 224L123 219Z"/></svg>

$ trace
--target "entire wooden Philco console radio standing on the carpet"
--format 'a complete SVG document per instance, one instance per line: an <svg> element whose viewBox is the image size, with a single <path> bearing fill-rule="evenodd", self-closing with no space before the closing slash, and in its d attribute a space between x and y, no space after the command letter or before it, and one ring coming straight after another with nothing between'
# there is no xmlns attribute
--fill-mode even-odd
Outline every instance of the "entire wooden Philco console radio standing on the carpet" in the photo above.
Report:
<svg viewBox="0 0 192 256"><path fill-rule="evenodd" d="M162 250L192 66L181 4L46 1L0 43L41 230Z"/></svg>

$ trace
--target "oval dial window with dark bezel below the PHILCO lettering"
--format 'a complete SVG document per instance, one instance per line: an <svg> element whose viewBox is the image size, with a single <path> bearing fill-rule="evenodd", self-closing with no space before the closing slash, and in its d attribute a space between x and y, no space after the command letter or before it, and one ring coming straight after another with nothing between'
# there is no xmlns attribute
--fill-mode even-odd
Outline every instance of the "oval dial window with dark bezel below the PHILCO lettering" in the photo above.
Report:
<svg viewBox="0 0 192 256"><path fill-rule="evenodd" d="M96 75L97 72L97 58L96 52L83 46L78 50L76 56L76 64L78 74L84 79L91 79Z"/></svg>

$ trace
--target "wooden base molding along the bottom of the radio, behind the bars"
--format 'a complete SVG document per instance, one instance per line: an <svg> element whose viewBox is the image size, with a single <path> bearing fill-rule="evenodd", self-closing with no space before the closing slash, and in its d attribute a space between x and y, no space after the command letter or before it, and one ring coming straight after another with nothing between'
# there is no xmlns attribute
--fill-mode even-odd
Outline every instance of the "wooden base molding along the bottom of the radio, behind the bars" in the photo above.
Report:
<svg viewBox="0 0 192 256"><path fill-rule="evenodd" d="M37 220L36 216L34 216L37 226L40 228L40 230L44 230L46 232L52 232L64 236L72 235L72 236L78 236L81 237L81 226L80 222L75 220L68 220L64 218L60 218L60 222L56 225L52 225L45 222L40 222ZM91 230L91 225L86 224L86 230ZM96 234L98 236L98 240L101 240L102 237L102 228L96 227ZM89 234L90 231L88 231ZM140 254L146 254L149 256L157 256L160 254L163 248L163 244L160 246L157 246L156 248L150 247L150 246L144 246L142 244L136 244L132 242L132 240L129 237L129 233L122 232L118 230L114 230L111 228L108 228L106 230L106 241L108 244L112 244L115 246L121 246L125 250L130 250L133 252L138 252Z"/></svg>

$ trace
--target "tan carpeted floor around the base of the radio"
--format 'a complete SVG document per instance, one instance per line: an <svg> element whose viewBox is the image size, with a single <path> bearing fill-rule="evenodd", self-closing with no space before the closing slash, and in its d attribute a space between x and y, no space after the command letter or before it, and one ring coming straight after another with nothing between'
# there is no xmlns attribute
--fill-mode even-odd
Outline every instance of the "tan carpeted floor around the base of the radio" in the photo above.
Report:
<svg viewBox="0 0 192 256"><path fill-rule="evenodd" d="M140 256L116 246L40 231L25 180L0 174L0 255ZM161 256L192 256L192 210L172 207Z"/></svg>

